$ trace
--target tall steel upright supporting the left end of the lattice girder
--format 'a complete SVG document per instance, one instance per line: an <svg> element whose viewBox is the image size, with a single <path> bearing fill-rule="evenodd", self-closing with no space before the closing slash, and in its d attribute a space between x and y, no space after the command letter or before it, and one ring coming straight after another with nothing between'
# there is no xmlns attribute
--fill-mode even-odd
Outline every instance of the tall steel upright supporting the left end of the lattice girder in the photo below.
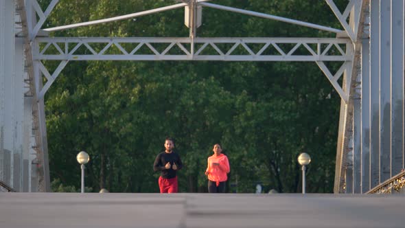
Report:
<svg viewBox="0 0 405 228"><path fill-rule="evenodd" d="M42 78L40 78L39 71L34 71L34 61L32 60L32 52L37 52L35 41L32 41L31 36L36 36L34 32L36 23L36 15L39 16L40 22L43 23L46 16L54 8L57 1L53 0L45 13L40 10L36 0L15 0L16 8L20 14L22 31L17 32L17 36L21 36L24 41L24 54L25 54L25 69L27 78L25 82L28 84L28 91L24 92L25 95L25 119L32 119L30 123L24 125L24 129L30 129L29 132L33 133L24 135L25 145L23 168L23 179L29 181L29 185L23 185L24 191L30 192L49 192L49 162L47 155L47 135L45 127L45 109L43 100L38 100L36 94L39 87L42 87ZM45 16L45 17L44 17ZM41 25L38 25L40 27ZM33 33L34 32L34 33ZM35 35L33 35L35 34ZM36 50L35 50L36 49ZM28 146L28 148L26 148ZM28 150L28 151L27 151Z"/></svg>

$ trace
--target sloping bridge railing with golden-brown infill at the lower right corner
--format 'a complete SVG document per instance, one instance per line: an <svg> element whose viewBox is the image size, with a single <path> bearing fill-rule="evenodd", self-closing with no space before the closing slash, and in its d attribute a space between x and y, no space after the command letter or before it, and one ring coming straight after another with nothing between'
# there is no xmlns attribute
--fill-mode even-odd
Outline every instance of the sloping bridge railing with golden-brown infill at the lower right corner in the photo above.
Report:
<svg viewBox="0 0 405 228"><path fill-rule="evenodd" d="M397 194L402 193L405 194L405 170L403 169L399 174L391 177L381 183L373 187L373 189L366 192L366 194Z"/></svg>

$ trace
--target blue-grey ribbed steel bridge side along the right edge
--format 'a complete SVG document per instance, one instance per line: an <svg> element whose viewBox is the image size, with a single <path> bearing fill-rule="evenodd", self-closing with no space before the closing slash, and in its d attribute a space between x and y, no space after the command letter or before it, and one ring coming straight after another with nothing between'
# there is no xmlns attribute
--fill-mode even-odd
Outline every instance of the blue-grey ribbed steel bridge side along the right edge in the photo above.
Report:
<svg viewBox="0 0 405 228"><path fill-rule="evenodd" d="M346 180L340 176L338 183L345 183L346 189L338 185L335 192L390 192L385 184L404 169L405 5L402 0L362 3L367 7L362 10L364 23L360 23L364 29L361 43L355 44L361 47L361 87L354 84L349 100L349 105L353 100L354 121L348 135L353 137L354 148L341 153ZM355 99L359 88L360 104Z"/></svg>

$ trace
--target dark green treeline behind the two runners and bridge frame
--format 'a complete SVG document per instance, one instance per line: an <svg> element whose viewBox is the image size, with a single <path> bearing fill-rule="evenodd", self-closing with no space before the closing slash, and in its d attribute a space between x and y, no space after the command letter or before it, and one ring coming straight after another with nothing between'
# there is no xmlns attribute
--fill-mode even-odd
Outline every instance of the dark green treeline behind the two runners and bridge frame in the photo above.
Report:
<svg viewBox="0 0 405 228"><path fill-rule="evenodd" d="M345 1L342 1L343 3ZM40 1L43 9L49 0ZM44 27L150 10L178 1L60 1ZM341 28L325 1L213 1ZM341 5L340 5L341 7ZM184 9L51 36L187 37ZM334 37L308 27L203 8L200 37ZM114 52L112 50L111 52ZM236 50L238 52L238 50ZM242 51L241 51L242 52ZM53 71L58 62L47 61ZM174 137L185 168L179 192L207 192L220 142L229 192L300 192L300 152L312 157L308 192L332 192L340 98L314 62L69 62L45 96L54 191L80 188L76 155L89 153L89 191L159 192L152 163Z"/></svg>

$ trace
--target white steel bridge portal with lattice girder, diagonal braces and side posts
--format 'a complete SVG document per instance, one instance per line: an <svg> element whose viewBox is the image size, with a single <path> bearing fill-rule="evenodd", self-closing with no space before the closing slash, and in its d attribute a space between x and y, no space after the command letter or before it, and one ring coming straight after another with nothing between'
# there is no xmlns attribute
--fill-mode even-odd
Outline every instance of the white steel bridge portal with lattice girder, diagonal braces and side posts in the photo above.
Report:
<svg viewBox="0 0 405 228"><path fill-rule="evenodd" d="M297 21L294 19L286 19L281 16L231 8L224 5L216 5L207 3L209 0L183 0L183 3L168 5L163 8L136 12L124 16L115 16L111 19L101 19L73 25L62 25L59 27L51 27L43 31L52 32L58 30L72 29L75 27L95 25L99 23L108 23L110 21L118 21L130 19L137 16L154 14L166 10L176 8L189 8L189 28L190 37L187 38L76 38L76 37L38 37L41 30L40 27L44 24L47 16L54 9L58 0L52 0L49 6L43 12L37 0L16 0L19 3L19 8L27 10L26 21L23 23L27 26L25 32L26 45L32 47L27 48L30 52L27 55L28 65L30 66L30 78L34 78L36 83L30 83L30 91L33 91L33 97L38 104L43 104L45 93L51 84L56 80L59 73L64 69L67 63L71 60L222 60L222 61L306 61L316 62L320 69L325 73L332 86L342 98L342 104L349 104L351 100L351 84L352 73L354 73L354 65L358 59L354 58L354 44L358 38L358 25L360 22L361 0L350 0L344 12L336 7L333 0L325 0L331 10L336 15L344 30L338 30L332 27L316 25L313 23ZM23 3L24 2L24 3ZM200 38L196 36L196 23L198 7L214 8L218 10L227 10L240 14L258 16L264 19L272 19L312 27L317 30L323 30L336 34L337 38ZM36 14L36 15L32 15ZM38 23L36 22L36 16ZM347 18L350 16L351 23L347 23ZM31 42L31 43L30 43ZM32 55L31 55L32 52ZM32 59L31 59L32 56ZM53 73L49 73L41 60L58 60L59 66ZM341 67L332 73L327 62L342 62ZM34 67L32 67L34 66ZM33 69L34 68L34 69ZM34 75L34 76L32 76ZM45 76L46 83L42 87L42 80ZM340 82L340 78L343 82ZM43 109L43 105L34 107L35 109ZM33 108L33 109L34 109ZM345 117L349 109L345 109ZM39 113L43 113L41 110ZM342 115L341 115L342 118ZM45 127L45 117L39 119ZM347 130L347 126L344 126ZM46 138L46 130L45 138ZM340 134L340 133L339 133ZM349 139L345 137L343 143L346 145ZM346 142L346 143L345 143ZM46 144L46 140L44 144ZM40 144L38 140L38 144ZM45 150L41 157L44 157L44 162L47 162L47 145L43 145L40 150ZM339 147L339 146L338 146ZM38 152L40 154L40 152ZM46 166L46 165L45 165ZM336 164L338 166L338 164ZM342 170L345 169L343 165ZM45 169L46 170L46 169ZM45 171L44 170L44 171ZM46 170L45 172L47 172ZM48 171L49 172L49 171ZM342 171L343 172L343 171ZM47 175L47 174L40 174ZM49 176L49 174L48 174ZM339 180L341 180L339 176ZM49 180L47 180L49 181ZM47 185L49 182L47 183ZM49 186L47 186L49 188Z"/></svg>

